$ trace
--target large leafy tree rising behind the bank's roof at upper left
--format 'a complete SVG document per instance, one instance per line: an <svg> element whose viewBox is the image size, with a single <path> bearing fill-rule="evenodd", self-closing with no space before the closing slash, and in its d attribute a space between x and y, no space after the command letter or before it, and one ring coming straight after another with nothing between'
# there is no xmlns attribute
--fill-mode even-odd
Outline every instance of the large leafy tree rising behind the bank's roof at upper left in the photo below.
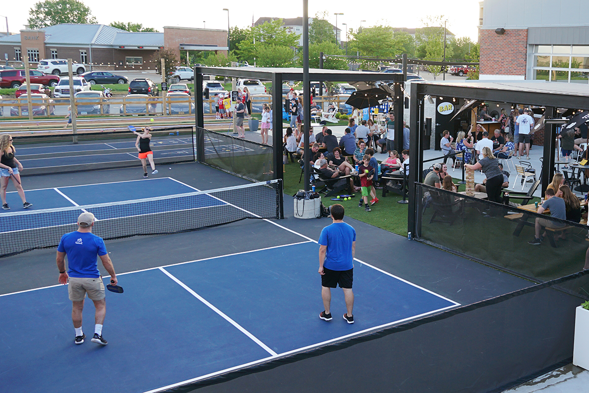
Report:
<svg viewBox="0 0 589 393"><path fill-rule="evenodd" d="M77 0L45 0L35 3L29 9L27 21L31 29L41 29L61 23L94 24L98 23L92 11Z"/></svg>

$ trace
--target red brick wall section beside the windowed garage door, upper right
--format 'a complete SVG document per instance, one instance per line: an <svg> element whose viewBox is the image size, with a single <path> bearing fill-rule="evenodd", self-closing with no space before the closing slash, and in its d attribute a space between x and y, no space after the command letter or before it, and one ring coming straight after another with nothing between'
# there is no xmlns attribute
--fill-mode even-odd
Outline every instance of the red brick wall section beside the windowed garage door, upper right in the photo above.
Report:
<svg viewBox="0 0 589 393"><path fill-rule="evenodd" d="M521 75L525 77L528 30L505 30L498 35L495 30L479 29L481 45L481 74Z"/></svg>

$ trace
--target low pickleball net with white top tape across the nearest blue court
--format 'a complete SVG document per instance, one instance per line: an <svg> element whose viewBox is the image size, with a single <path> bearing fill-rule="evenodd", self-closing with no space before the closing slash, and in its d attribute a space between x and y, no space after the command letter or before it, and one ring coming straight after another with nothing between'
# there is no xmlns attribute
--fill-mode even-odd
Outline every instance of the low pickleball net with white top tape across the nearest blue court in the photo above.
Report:
<svg viewBox="0 0 589 393"><path fill-rule="evenodd" d="M243 219L284 218L282 180L122 202L0 213L0 257L56 247L77 230L78 216L96 217L92 233L105 240L166 235Z"/></svg>

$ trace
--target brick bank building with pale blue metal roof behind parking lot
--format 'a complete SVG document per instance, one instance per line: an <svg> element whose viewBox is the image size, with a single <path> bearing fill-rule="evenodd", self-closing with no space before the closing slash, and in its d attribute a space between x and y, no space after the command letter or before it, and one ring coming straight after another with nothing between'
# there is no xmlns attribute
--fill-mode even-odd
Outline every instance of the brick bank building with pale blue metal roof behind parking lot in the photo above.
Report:
<svg viewBox="0 0 589 393"><path fill-rule="evenodd" d="M60 24L0 37L0 56L13 67L22 67L27 55L33 67L39 60L71 58L94 70L153 69L155 51L227 52L227 31L164 27L164 32L128 32L108 25Z"/></svg>

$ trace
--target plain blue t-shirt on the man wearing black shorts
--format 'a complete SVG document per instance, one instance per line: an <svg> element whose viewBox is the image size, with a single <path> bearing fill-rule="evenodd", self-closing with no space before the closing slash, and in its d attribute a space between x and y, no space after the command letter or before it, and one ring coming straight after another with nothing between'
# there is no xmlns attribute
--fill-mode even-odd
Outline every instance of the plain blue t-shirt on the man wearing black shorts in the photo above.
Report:
<svg viewBox="0 0 589 393"><path fill-rule="evenodd" d="M330 270L350 270L354 267L352 242L356 241L356 230L346 223L326 226L319 236L319 245L327 246L323 267Z"/></svg>

